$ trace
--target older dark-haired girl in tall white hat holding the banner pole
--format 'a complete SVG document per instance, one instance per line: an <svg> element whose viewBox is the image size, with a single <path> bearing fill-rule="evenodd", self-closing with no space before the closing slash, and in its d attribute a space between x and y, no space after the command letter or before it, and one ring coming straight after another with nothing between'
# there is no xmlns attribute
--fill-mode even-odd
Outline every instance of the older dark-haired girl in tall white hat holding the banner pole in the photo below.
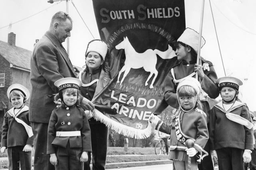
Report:
<svg viewBox="0 0 256 170"><path fill-rule="evenodd" d="M209 123L209 110L212 107L207 98L215 99L219 96L218 85L216 84L217 74L214 66L210 61L206 61L200 56L202 63L197 63L198 49L202 48L205 40L201 37L199 45L199 33L191 28L186 28L177 39L176 55L178 64L170 69L165 79L164 100L169 106L179 108L177 98L177 86L187 77L196 77L200 79L202 93L200 101L203 105L203 111L207 115L207 123ZM204 148L210 155L209 145ZM206 156L201 164L198 164L198 170L213 169L211 156Z"/></svg>

